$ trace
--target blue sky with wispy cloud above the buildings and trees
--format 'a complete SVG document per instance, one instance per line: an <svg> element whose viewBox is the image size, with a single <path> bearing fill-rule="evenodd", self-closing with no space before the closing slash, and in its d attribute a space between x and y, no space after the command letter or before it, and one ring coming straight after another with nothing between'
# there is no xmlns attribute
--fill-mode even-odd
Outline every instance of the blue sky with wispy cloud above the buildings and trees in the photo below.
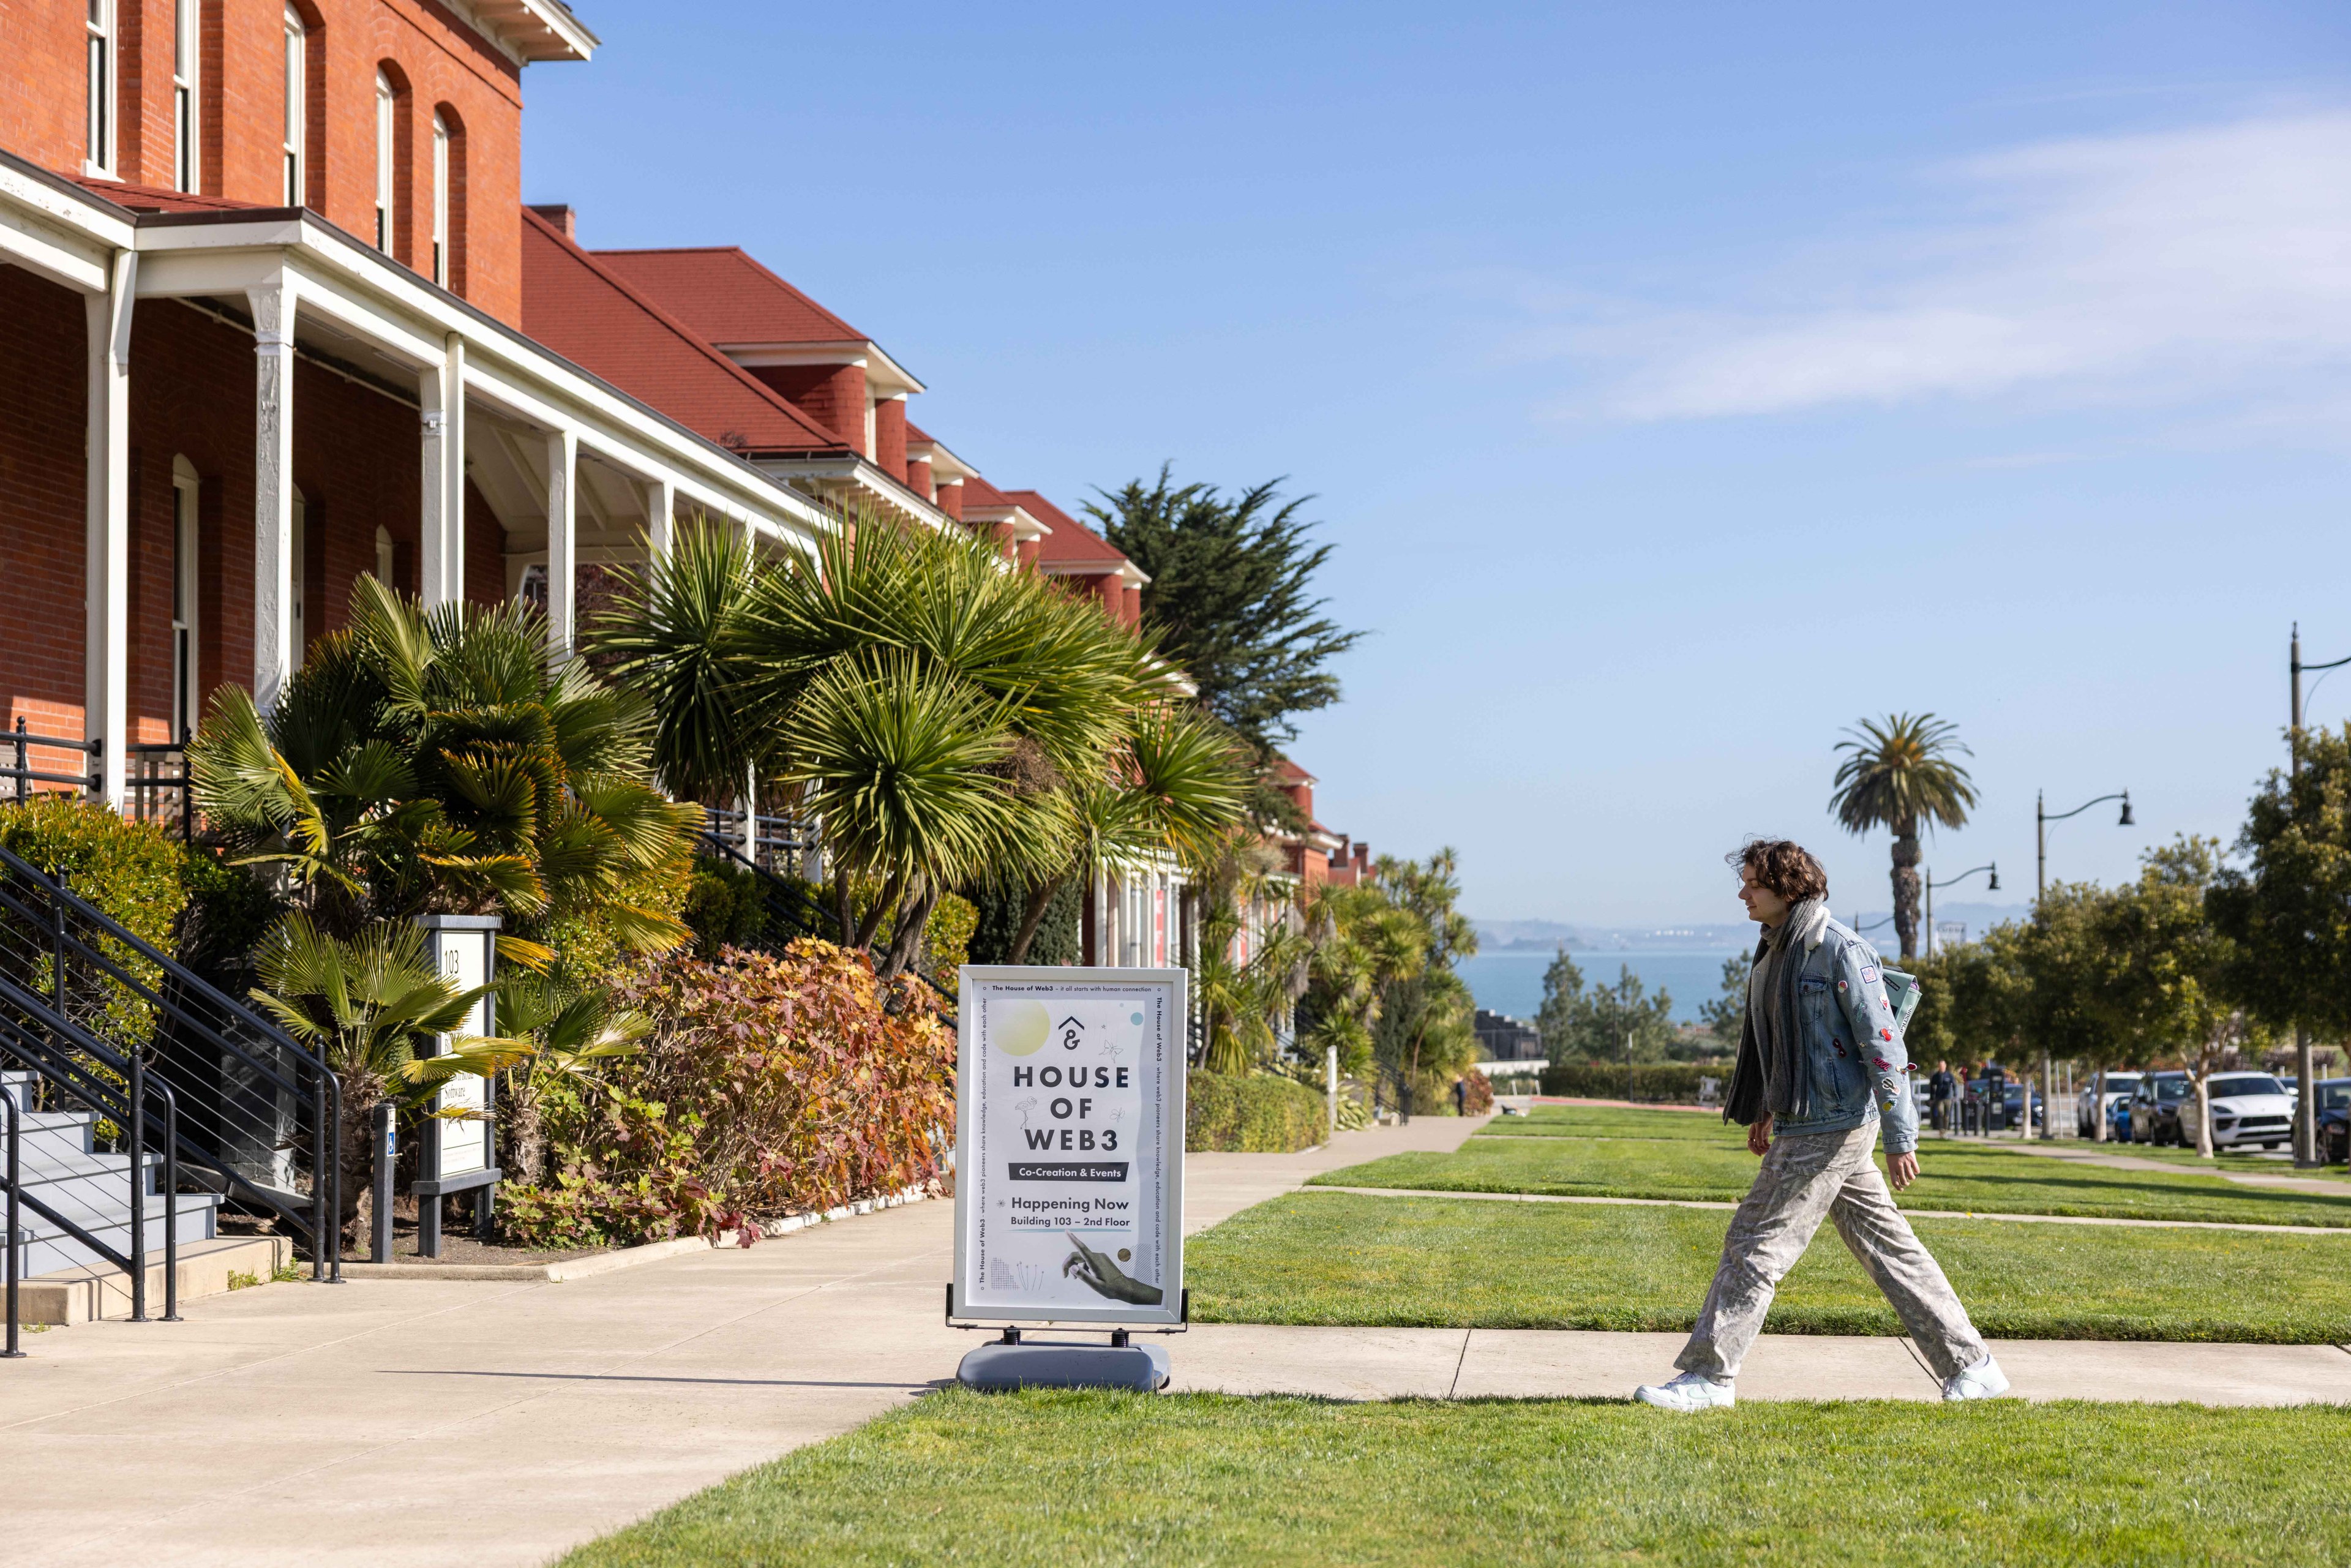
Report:
<svg viewBox="0 0 2351 1568"><path fill-rule="evenodd" d="M745 244L999 484L1319 496L1373 637L1293 752L1474 914L1735 919L1749 832L1883 907L1890 708L1975 748L1933 865L2128 785L2050 858L2118 879L2351 654L2339 5L578 9L588 244Z"/></svg>

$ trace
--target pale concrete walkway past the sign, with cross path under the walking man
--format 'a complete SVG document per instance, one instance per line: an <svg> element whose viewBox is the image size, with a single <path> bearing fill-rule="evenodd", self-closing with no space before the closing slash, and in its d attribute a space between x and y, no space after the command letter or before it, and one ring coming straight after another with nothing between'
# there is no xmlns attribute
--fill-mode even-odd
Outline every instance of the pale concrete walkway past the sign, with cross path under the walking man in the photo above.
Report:
<svg viewBox="0 0 2351 1568"><path fill-rule="evenodd" d="M1328 1171L1451 1150L1420 1119L1197 1154L1187 1229ZM952 1204L571 1284L287 1284L87 1324L0 1363L9 1563L527 1566L952 1378ZM1625 1396L1679 1335L1201 1326L1176 1385ZM2001 1345L2034 1396L2351 1399L2335 1347ZM1928 1396L1900 1340L1768 1338L1749 1399Z"/></svg>

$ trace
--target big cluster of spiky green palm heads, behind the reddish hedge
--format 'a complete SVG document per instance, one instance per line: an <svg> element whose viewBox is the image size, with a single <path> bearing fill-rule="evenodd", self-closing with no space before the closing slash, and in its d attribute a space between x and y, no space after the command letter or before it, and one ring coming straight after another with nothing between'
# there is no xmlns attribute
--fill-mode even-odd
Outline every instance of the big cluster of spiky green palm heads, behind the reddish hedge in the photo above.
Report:
<svg viewBox="0 0 2351 1568"><path fill-rule="evenodd" d="M588 649L651 701L672 788L717 804L759 778L823 820L842 933L882 947L882 980L957 884L1037 891L1030 936L1072 870L1241 811L1147 639L952 531L865 517L762 559L698 520Z"/></svg>

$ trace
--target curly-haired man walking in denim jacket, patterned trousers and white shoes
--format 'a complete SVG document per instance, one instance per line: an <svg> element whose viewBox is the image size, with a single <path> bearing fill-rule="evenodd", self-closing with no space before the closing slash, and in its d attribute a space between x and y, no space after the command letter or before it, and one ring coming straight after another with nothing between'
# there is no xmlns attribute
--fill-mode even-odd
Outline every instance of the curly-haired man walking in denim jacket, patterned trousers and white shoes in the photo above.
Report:
<svg viewBox="0 0 2351 1568"><path fill-rule="evenodd" d="M1674 1356L1681 1375L1643 1385L1634 1399L1665 1410L1735 1403L1740 1361L1763 1331L1773 1291L1822 1220L1836 1222L1886 1291L1942 1378L1944 1399L2005 1394L2008 1378L1869 1159L1883 1112L1895 1192L1918 1178L1909 1056L1876 950L1829 919L1829 877L1801 844L1756 839L1733 860L1740 900L1763 940L1747 978L1723 1119L1747 1126L1747 1147L1763 1168L1730 1218L1697 1328Z"/></svg>

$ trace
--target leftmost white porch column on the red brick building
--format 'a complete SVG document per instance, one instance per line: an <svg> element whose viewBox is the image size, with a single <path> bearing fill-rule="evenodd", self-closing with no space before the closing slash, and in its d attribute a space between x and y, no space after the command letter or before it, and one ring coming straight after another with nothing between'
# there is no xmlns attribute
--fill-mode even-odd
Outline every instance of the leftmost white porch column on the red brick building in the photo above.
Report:
<svg viewBox="0 0 2351 1568"><path fill-rule="evenodd" d="M129 745L132 604L132 299L139 252L115 252L106 294L85 294L89 324L89 416L85 487L87 559L82 599L82 738L101 743L96 797L122 809Z"/></svg>

